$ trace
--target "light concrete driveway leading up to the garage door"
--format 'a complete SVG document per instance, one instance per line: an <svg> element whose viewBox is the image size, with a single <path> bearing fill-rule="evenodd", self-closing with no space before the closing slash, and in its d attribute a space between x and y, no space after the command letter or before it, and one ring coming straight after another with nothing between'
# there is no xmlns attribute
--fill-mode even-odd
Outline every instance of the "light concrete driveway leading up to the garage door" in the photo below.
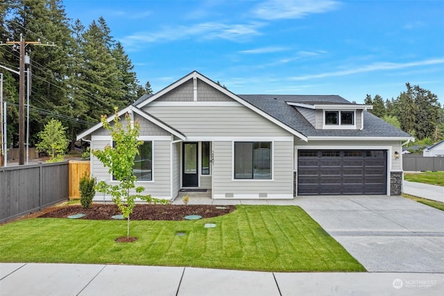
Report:
<svg viewBox="0 0 444 296"><path fill-rule="evenodd" d="M404 197L297 197L369 272L444 272L444 211Z"/></svg>

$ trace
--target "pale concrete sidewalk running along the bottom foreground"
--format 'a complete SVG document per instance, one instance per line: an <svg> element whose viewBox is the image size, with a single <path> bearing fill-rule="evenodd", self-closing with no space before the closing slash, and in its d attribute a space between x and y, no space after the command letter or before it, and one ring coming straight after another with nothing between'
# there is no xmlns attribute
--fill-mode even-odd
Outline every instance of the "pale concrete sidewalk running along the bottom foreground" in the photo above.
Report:
<svg viewBox="0 0 444 296"><path fill-rule="evenodd" d="M444 274L0 263L0 295L442 295Z"/></svg>

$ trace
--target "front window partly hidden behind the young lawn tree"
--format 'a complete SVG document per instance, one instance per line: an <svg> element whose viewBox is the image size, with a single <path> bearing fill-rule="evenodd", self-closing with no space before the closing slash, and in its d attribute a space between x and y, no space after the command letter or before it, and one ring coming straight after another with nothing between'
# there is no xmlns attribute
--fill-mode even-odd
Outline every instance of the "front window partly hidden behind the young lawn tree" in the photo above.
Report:
<svg viewBox="0 0 444 296"><path fill-rule="evenodd" d="M112 147L116 147L116 142L112 142ZM139 146L139 154L134 158L133 173L137 181L153 180L153 142L144 141ZM112 176L112 179L116 178Z"/></svg>

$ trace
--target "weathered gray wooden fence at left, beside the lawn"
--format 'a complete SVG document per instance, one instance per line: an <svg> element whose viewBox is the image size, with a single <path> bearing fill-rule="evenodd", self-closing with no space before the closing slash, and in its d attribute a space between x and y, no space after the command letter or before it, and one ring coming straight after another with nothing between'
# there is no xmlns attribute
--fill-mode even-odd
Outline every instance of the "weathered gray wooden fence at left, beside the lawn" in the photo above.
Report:
<svg viewBox="0 0 444 296"><path fill-rule="evenodd" d="M0 222L69 197L68 162L0 167Z"/></svg>

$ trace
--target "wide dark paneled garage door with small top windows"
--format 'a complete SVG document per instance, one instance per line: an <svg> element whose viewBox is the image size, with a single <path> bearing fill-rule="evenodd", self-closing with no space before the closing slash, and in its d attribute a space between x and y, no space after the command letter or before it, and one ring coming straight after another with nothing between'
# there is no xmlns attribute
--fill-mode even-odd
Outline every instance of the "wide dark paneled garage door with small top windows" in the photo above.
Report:
<svg viewBox="0 0 444 296"><path fill-rule="evenodd" d="M386 150L298 150L298 195L386 192Z"/></svg>

